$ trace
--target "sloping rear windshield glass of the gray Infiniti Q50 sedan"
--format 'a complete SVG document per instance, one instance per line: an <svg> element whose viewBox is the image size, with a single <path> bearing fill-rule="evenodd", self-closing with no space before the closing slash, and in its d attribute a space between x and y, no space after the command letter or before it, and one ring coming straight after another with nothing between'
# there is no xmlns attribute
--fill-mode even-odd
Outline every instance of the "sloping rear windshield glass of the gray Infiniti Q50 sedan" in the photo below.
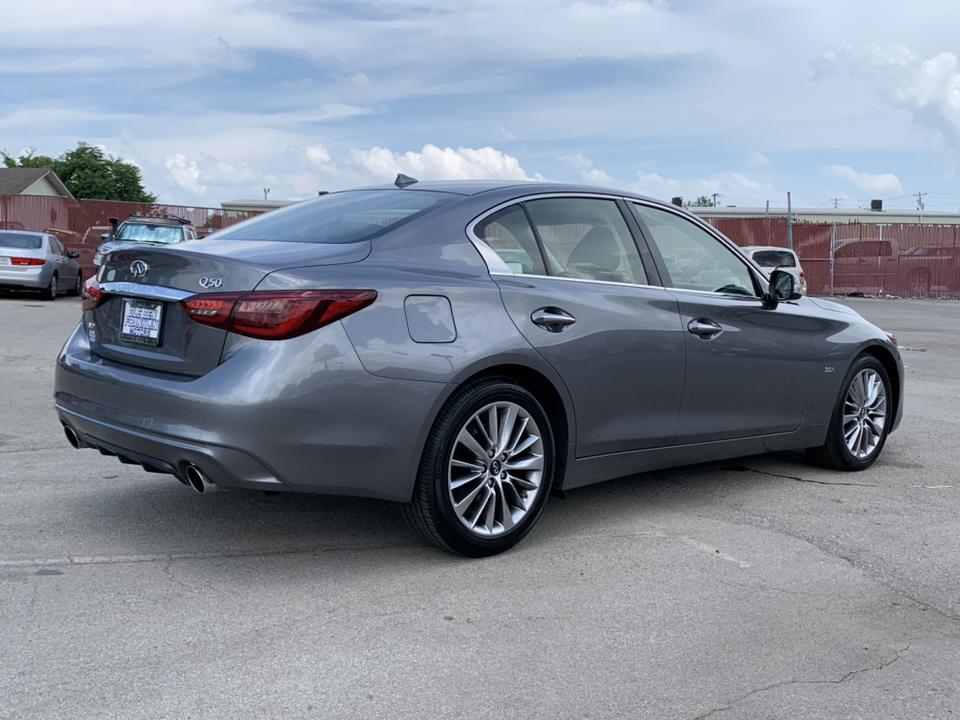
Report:
<svg viewBox="0 0 960 720"><path fill-rule="evenodd" d="M455 199L449 193L353 190L273 210L221 230L218 238L353 243L370 240Z"/></svg>

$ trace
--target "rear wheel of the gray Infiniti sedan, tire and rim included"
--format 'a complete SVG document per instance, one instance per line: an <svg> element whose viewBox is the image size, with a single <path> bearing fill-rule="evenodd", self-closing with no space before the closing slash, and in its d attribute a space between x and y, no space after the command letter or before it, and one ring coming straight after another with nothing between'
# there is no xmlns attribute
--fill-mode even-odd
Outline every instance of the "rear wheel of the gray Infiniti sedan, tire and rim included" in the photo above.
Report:
<svg viewBox="0 0 960 720"><path fill-rule="evenodd" d="M404 516L445 550L503 552L540 517L555 452L550 421L528 390L506 378L462 388L431 429Z"/></svg>

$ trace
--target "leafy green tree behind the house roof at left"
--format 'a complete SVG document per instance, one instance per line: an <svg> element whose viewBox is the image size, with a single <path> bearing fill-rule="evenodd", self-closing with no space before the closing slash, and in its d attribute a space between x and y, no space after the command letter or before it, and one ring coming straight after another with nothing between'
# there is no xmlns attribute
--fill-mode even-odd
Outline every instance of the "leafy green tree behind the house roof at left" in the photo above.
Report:
<svg viewBox="0 0 960 720"><path fill-rule="evenodd" d="M81 142L57 158L36 155L34 150L13 158L3 153L7 167L49 167L74 197L153 203L156 195L143 187L140 168L103 150Z"/></svg>

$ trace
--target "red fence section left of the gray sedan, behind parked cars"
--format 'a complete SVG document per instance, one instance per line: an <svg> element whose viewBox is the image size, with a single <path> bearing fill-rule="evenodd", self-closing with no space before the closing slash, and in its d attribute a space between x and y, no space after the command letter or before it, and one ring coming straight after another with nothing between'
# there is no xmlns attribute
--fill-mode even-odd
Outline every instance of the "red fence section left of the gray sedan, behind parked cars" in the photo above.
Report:
<svg viewBox="0 0 960 720"><path fill-rule="evenodd" d="M110 218L123 222L132 215L176 215L189 220L203 235L253 217L255 212L183 205L151 205L114 200L67 200L42 195L0 195L0 229L49 232L70 250L80 253L84 276L93 273L93 254L100 236L110 230Z"/></svg>

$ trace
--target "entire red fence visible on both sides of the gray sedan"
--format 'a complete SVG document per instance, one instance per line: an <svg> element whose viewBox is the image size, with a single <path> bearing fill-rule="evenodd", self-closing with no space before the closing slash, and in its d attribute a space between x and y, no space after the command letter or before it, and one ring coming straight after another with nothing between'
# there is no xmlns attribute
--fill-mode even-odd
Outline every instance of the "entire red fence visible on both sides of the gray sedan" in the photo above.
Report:
<svg viewBox="0 0 960 720"><path fill-rule="evenodd" d="M109 218L177 215L203 234L252 217L254 212L110 200L66 200L0 195L0 229L43 230L80 253L85 274ZM740 246L787 246L786 218L712 218ZM795 223L793 247L812 295L864 293L960 298L960 226Z"/></svg>

